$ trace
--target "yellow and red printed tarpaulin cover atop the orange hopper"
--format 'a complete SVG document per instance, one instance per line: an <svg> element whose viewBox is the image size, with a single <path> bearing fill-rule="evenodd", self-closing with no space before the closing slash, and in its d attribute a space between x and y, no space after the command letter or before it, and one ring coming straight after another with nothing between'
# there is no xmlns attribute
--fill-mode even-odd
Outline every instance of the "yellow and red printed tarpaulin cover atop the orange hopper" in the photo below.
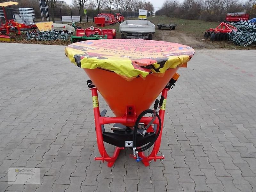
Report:
<svg viewBox="0 0 256 192"><path fill-rule="evenodd" d="M189 46L143 39L103 39L73 43L65 48L80 68L102 68L129 80L149 73L161 76L168 68L187 63L195 51Z"/></svg>

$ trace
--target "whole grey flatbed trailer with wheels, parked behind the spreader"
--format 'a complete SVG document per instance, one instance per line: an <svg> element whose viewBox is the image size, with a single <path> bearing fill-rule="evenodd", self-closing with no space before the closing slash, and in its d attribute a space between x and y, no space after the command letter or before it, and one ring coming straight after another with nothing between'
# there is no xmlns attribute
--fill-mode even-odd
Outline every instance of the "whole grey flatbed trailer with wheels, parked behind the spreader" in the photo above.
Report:
<svg viewBox="0 0 256 192"><path fill-rule="evenodd" d="M125 20L120 24L121 39L153 39L155 25L148 20Z"/></svg>

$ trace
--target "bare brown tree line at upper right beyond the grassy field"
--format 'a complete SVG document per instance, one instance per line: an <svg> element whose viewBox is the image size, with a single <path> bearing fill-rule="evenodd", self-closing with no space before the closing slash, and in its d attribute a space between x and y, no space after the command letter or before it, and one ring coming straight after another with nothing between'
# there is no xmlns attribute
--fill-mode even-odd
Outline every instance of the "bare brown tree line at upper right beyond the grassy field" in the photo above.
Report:
<svg viewBox="0 0 256 192"><path fill-rule="evenodd" d="M229 12L246 12L256 17L256 0L166 0L156 15L189 20L221 21Z"/></svg>

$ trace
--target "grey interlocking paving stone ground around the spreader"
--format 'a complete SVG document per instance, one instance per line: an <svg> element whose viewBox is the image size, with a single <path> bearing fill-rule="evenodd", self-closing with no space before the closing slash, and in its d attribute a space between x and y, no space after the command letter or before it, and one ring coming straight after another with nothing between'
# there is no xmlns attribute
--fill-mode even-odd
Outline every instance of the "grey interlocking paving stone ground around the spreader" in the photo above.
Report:
<svg viewBox="0 0 256 192"><path fill-rule="evenodd" d="M145 167L124 150L112 168L93 160L88 77L64 46L0 52L0 192L256 191L256 50L197 50L168 95L166 159ZM40 168L40 184L8 185L17 167Z"/></svg>

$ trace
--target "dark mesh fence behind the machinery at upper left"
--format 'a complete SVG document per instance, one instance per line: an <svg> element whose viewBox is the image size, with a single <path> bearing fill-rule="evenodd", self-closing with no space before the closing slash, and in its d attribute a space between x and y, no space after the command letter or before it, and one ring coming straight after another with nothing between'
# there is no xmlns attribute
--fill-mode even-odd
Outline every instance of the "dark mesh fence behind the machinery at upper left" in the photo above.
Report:
<svg viewBox="0 0 256 192"><path fill-rule="evenodd" d="M116 13L115 11L100 11L99 13ZM96 10L86 10L86 14L84 14L84 10L80 11L79 9L61 9L56 8L54 12L48 8L49 21L54 21L55 23L71 23L73 21L81 22L94 22L94 17L97 16L98 11ZM54 14L54 20L52 17ZM138 12L123 12L123 16L126 19L135 18L139 16ZM36 21L42 21L41 15L36 15Z"/></svg>

